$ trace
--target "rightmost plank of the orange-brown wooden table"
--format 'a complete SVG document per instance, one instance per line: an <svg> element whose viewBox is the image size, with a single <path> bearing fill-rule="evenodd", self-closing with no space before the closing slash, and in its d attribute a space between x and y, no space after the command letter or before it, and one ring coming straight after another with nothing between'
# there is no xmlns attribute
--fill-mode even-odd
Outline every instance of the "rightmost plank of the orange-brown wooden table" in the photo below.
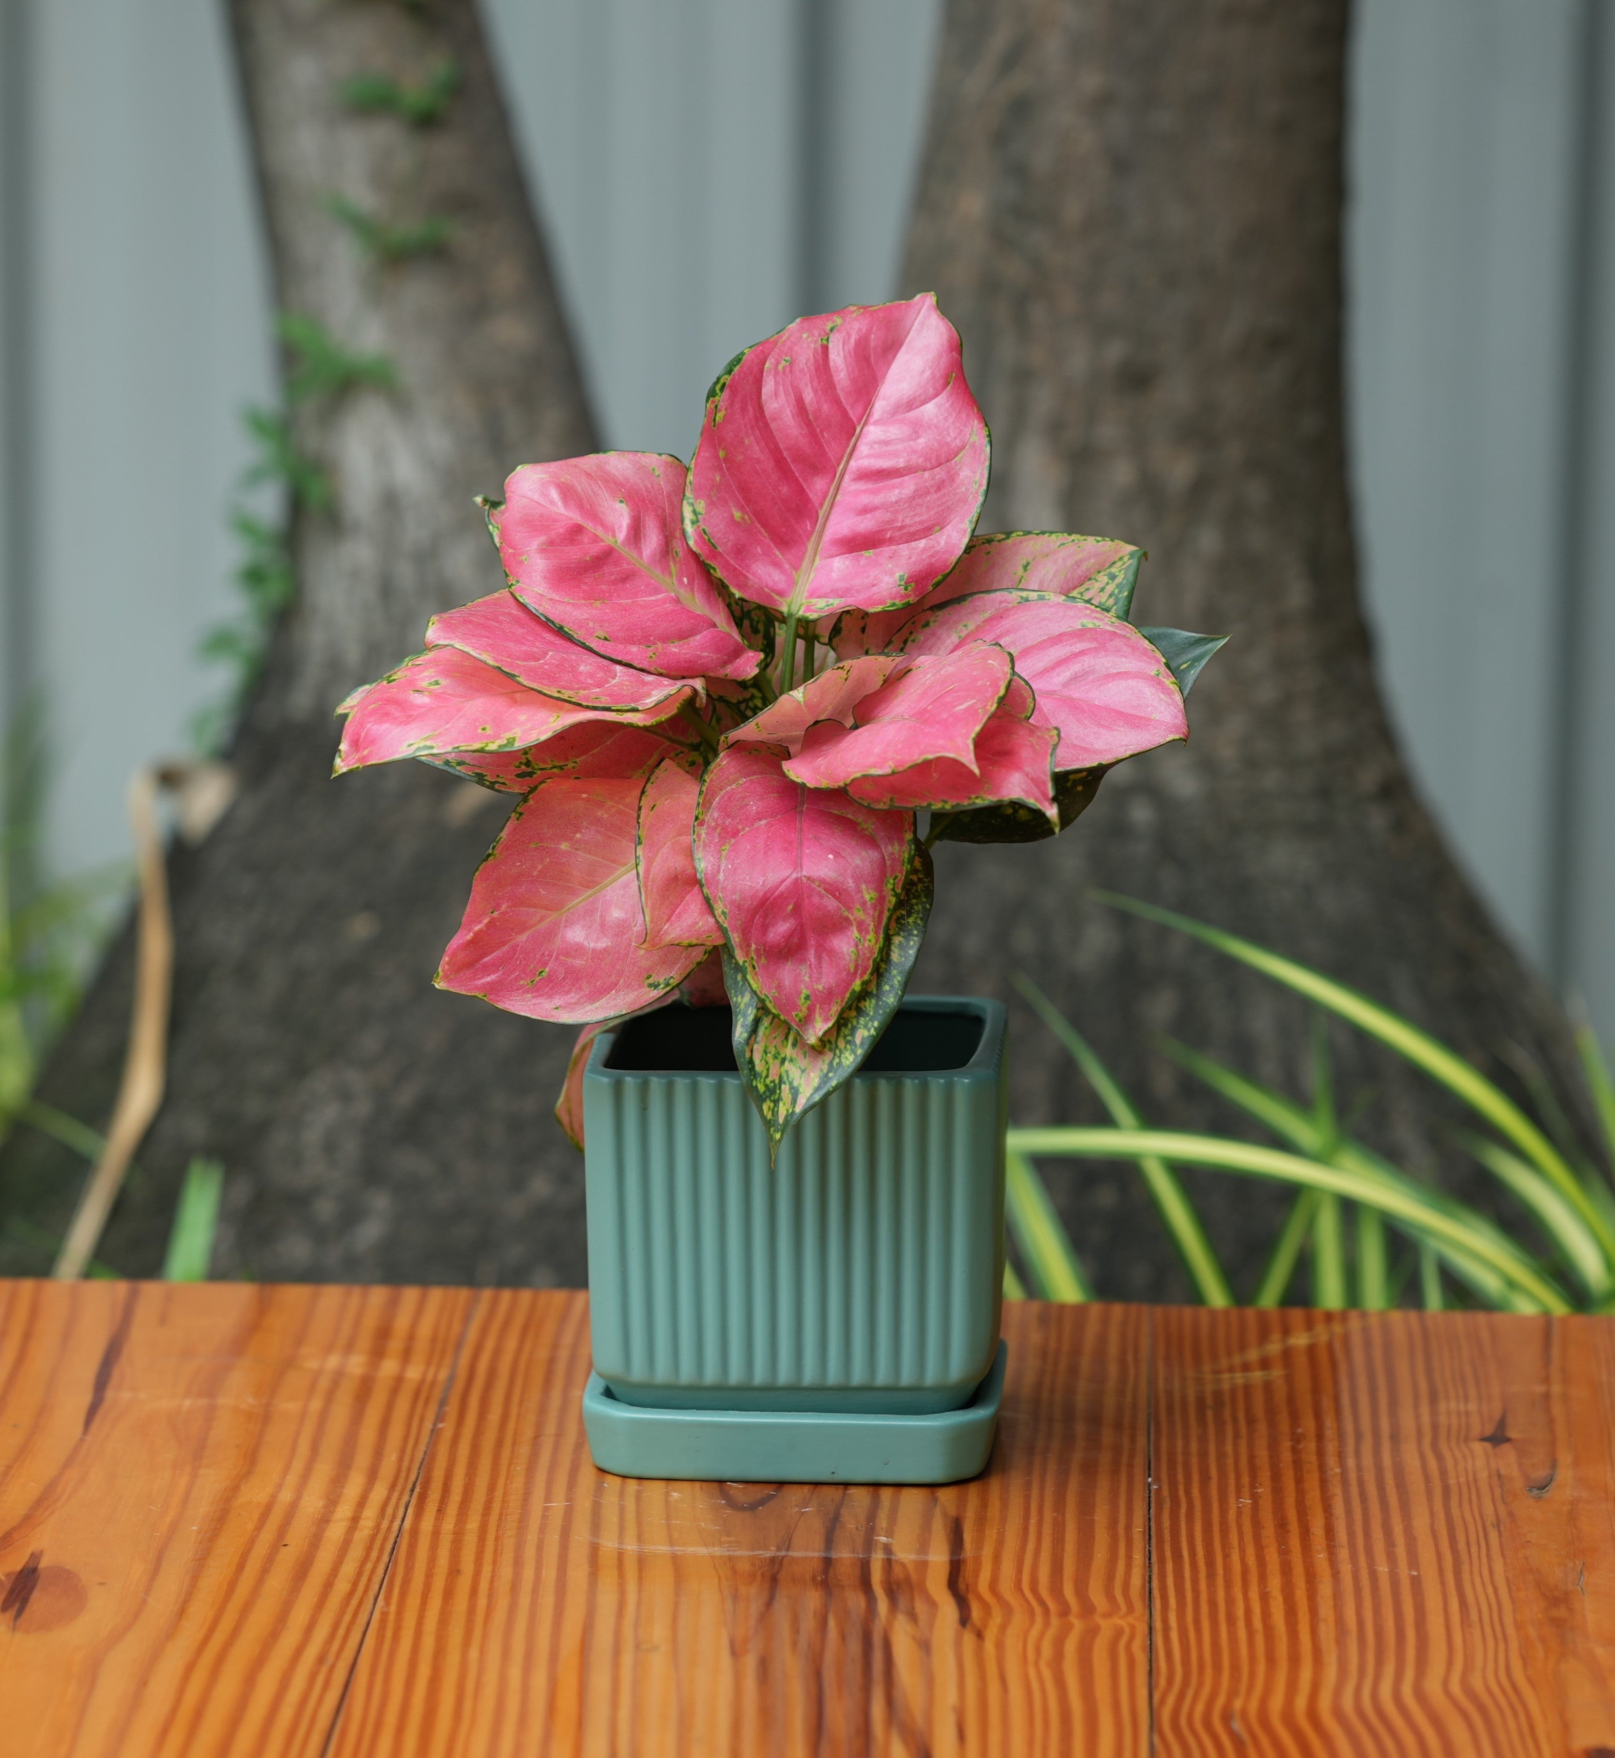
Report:
<svg viewBox="0 0 1615 1758"><path fill-rule="evenodd" d="M1615 1747L1611 1347L1608 1320L1160 1311L1158 1751Z"/></svg>

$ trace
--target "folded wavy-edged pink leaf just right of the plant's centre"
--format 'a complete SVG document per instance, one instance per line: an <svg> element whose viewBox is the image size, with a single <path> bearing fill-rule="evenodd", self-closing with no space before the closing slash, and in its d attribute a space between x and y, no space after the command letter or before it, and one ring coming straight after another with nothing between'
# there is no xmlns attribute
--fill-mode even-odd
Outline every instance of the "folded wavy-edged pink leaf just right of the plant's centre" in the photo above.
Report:
<svg viewBox="0 0 1615 1758"><path fill-rule="evenodd" d="M975 770L975 737L1003 700L1009 679L1009 654L984 642L924 654L865 696L851 728L838 721L810 728L786 774L808 788L845 788L859 775L893 775L938 758Z"/></svg>

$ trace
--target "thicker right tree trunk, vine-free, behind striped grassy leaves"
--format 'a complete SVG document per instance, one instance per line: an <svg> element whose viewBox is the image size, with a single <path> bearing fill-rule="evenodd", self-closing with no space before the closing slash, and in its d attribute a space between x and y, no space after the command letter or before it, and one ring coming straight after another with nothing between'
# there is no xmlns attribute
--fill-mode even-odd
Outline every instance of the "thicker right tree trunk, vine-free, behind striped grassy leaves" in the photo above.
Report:
<svg viewBox="0 0 1615 1758"><path fill-rule="evenodd" d="M1153 1053L1167 1032L1297 1095L1304 1009L1088 898L1218 923L1411 1014L1490 1072L1510 1046L1575 1078L1564 1020L1409 786L1355 592L1341 373L1346 0L949 0L907 287L935 288L996 443L982 529L1144 545L1141 622L1232 635L1188 747L1123 765L1075 830L938 849L916 984L1032 974L1153 1122L1230 1113ZM1501 707L1501 705L1499 705ZM1014 1115L1093 1120L1016 1014ZM1336 1034L1344 1099L1404 1162L1446 1115ZM1130 1171L1058 1173L1111 1294L1183 1289L1141 1248ZM1244 1287L1278 1192L1202 1178ZM1155 1238L1160 1238L1155 1232Z"/></svg>

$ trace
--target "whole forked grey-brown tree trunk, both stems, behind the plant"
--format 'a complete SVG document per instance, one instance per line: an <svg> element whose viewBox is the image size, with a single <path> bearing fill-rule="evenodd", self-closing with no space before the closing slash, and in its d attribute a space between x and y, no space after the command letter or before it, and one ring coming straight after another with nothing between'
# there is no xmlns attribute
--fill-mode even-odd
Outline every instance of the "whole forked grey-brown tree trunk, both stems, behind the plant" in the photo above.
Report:
<svg viewBox="0 0 1615 1758"><path fill-rule="evenodd" d="M332 703L497 584L469 496L589 424L471 0L235 0L283 308L387 353L397 392L311 404L330 513L295 529L302 599L235 751L244 789L172 861L169 1102L104 1255L149 1273L186 1157L228 1169L216 1269L582 1280L578 1162L548 1122L569 1032L431 990L492 839L492 796L416 766L325 779ZM1242 930L1404 1007L1481 1060L1568 1062L1552 999L1457 875L1387 731L1353 591L1341 432L1343 0L952 0L909 258L967 341L998 436L984 529L1146 543L1142 621L1228 631L1186 751L1125 765L1058 842L938 849L917 988L1007 993L1019 967L1155 1120L1220 1122L1149 1057L1170 1030L1292 1088L1304 1016L1098 883ZM360 116L337 84L445 54L441 121ZM441 255L367 262L323 206L455 223ZM745 338L742 338L745 339ZM121 948L44 1097L91 1120L116 1085ZM1018 1014L1016 1115L1091 1115ZM1341 1050L1346 1046L1341 1042ZM1372 1055L1371 1127L1429 1159L1439 1108ZM65 1220L77 1167L16 1136L0 1201ZM1053 1171L1053 1169L1051 1169ZM1181 1280L1125 1171L1058 1178L1100 1285ZM1249 1269L1276 1199L1206 1206ZM7 1268L37 1268L0 1245Z"/></svg>

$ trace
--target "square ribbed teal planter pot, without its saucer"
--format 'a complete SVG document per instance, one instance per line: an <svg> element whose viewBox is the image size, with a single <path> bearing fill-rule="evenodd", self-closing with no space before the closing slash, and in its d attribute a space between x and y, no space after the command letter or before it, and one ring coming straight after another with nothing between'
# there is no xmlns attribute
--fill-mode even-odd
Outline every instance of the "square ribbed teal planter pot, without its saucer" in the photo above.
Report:
<svg viewBox="0 0 1615 1758"><path fill-rule="evenodd" d="M603 1032L583 1076L613 1412L970 1405L998 1348L1003 1007L905 1000L771 1167L728 1034L728 1009L666 1007Z"/></svg>

